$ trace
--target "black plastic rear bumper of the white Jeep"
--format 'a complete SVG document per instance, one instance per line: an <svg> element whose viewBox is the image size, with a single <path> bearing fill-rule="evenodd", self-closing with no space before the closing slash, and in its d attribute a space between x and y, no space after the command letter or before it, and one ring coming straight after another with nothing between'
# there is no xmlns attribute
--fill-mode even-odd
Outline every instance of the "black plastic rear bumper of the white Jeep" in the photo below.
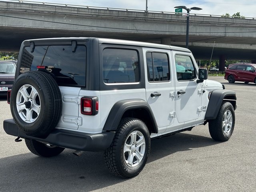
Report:
<svg viewBox="0 0 256 192"><path fill-rule="evenodd" d="M34 139L55 146L81 151L106 150L115 136L115 132L88 134L70 130L54 129L47 138L42 139L26 135L18 128L13 119L4 120L4 131L9 135L20 138Z"/></svg>

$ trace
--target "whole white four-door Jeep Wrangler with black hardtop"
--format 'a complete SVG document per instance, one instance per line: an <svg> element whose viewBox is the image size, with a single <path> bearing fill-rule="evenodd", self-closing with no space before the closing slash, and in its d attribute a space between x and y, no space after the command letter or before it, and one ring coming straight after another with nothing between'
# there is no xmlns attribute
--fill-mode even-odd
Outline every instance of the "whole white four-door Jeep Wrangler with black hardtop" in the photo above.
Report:
<svg viewBox="0 0 256 192"><path fill-rule="evenodd" d="M104 151L116 176L144 168L150 139L209 124L226 141L236 94L207 80L190 50L102 38L49 38L22 43L8 101L7 134L51 157L64 148Z"/></svg>

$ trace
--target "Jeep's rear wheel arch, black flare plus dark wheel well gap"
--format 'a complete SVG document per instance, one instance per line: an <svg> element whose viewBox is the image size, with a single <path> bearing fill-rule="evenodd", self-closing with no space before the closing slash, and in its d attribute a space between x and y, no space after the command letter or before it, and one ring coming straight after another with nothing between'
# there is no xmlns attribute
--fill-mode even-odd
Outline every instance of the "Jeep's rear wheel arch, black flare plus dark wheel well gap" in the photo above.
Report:
<svg viewBox="0 0 256 192"><path fill-rule="evenodd" d="M103 130L116 131L119 122L125 117L138 118L146 124L150 133L158 133L156 120L150 106L146 101L140 99L116 102L110 110Z"/></svg>

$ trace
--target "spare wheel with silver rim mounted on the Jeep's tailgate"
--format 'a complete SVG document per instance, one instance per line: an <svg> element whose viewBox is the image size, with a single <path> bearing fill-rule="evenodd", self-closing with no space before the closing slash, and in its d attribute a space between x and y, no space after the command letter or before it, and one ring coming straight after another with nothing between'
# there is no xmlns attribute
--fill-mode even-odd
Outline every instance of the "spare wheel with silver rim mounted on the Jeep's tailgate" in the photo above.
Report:
<svg viewBox="0 0 256 192"><path fill-rule="evenodd" d="M62 112L58 84L46 72L25 72L14 82L10 107L20 130L29 136L46 138Z"/></svg>

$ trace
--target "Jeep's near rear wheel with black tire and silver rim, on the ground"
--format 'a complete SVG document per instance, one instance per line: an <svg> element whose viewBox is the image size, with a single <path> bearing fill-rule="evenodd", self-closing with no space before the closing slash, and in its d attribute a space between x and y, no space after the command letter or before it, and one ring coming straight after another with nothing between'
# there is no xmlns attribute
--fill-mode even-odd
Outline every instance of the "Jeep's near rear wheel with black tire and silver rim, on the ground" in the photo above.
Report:
<svg viewBox="0 0 256 192"><path fill-rule="evenodd" d="M127 148L126 152L124 147ZM150 134L144 122L136 118L123 118L104 156L106 166L112 174L121 178L131 178L142 171L149 153Z"/></svg>

